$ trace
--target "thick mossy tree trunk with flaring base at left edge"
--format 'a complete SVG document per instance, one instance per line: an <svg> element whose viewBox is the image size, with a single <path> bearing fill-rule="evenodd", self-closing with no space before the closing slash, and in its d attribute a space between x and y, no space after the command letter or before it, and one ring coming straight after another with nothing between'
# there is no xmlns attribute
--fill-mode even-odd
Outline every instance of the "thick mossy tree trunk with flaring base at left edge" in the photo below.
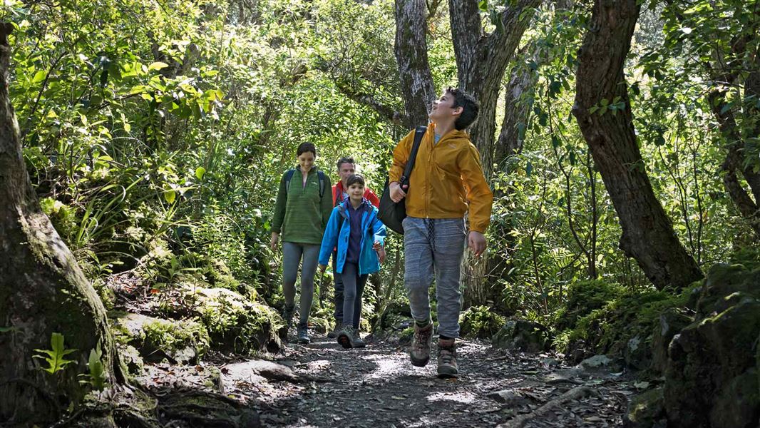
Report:
<svg viewBox="0 0 760 428"><path fill-rule="evenodd" d="M74 256L55 232L29 181L11 100L8 74L13 27L0 24L0 420L49 421L86 392L90 350L100 346L107 381L123 382L106 311ZM49 374L34 359L58 332L76 360Z"/></svg>

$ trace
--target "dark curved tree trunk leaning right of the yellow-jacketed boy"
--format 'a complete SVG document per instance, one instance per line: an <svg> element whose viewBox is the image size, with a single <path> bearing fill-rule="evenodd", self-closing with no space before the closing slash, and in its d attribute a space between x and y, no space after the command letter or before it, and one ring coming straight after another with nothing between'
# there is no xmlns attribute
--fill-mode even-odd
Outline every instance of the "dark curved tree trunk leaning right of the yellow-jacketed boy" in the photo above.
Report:
<svg viewBox="0 0 760 428"><path fill-rule="evenodd" d="M644 170L623 75L638 12L636 0L594 2L591 28L578 53L572 113L620 219L620 249L635 258L657 289L685 287L702 274L673 231ZM603 100L622 102L624 108L592 113Z"/></svg>

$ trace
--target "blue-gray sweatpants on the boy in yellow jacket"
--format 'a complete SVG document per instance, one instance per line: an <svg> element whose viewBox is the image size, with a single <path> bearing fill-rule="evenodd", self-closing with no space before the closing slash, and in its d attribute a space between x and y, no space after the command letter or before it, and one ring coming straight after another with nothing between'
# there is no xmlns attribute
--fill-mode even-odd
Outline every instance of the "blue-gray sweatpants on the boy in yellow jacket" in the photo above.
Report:
<svg viewBox="0 0 760 428"><path fill-rule="evenodd" d="M435 274L438 332L458 338L461 309L459 265L467 243L464 219L407 217L402 225L404 287L412 317L419 322L431 320L428 289Z"/></svg>

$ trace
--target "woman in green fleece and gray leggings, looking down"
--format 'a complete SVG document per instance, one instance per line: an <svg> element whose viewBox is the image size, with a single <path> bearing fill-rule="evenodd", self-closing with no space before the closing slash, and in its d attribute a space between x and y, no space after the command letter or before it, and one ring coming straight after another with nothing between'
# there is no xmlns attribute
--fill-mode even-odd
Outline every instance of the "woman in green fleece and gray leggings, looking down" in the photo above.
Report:
<svg viewBox="0 0 760 428"><path fill-rule="evenodd" d="M290 328L296 300L296 276L301 265L301 304L298 341L309 343L309 312L314 296L314 274L319 260L322 233L332 211L330 179L315 165L317 149L312 143L298 146L298 167L288 170L280 179L277 204L272 219L272 251L282 235L283 242L283 318ZM328 190L325 195L325 189Z"/></svg>

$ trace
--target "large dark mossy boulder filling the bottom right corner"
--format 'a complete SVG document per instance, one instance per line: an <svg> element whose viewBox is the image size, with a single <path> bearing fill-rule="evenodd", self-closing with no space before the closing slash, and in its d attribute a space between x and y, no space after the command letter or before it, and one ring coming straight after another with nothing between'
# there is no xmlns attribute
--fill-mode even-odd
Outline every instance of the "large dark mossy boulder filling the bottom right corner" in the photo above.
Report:
<svg viewBox="0 0 760 428"><path fill-rule="evenodd" d="M712 426L739 427L758 422L757 376L751 376L757 364L758 331L760 300L745 296L676 334L665 370L665 409L671 426L709 426L713 421L720 424Z"/></svg>

